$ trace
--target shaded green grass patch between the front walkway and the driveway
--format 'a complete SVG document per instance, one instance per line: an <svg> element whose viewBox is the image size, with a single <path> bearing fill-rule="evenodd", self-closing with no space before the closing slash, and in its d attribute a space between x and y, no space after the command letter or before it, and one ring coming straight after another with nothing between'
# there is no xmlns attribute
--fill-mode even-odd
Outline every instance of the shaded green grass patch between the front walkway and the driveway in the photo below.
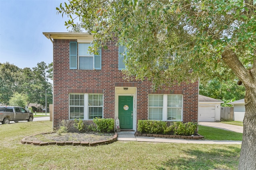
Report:
<svg viewBox="0 0 256 170"><path fill-rule="evenodd" d="M198 126L198 133L204 136L205 140L218 140L218 141L242 141L243 134L226 131L223 129L206 127L206 126Z"/></svg>

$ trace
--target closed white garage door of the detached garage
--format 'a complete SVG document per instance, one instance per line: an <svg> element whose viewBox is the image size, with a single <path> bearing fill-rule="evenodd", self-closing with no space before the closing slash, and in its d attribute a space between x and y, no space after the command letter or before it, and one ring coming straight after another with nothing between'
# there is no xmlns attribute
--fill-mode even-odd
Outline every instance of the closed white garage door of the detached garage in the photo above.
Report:
<svg viewBox="0 0 256 170"><path fill-rule="evenodd" d="M199 106L198 121L215 121L215 106Z"/></svg>

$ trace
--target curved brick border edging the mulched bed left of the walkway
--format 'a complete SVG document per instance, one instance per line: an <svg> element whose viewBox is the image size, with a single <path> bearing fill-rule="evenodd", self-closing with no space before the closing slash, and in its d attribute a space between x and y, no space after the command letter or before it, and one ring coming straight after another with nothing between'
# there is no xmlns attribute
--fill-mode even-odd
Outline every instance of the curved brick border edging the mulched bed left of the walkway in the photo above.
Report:
<svg viewBox="0 0 256 170"><path fill-rule="evenodd" d="M54 133L54 132L48 132L48 133ZM48 133L38 133L36 135L41 134L48 134ZM27 137L24 137L20 142L22 144L29 144L29 145L37 145L37 146L47 146L47 145L59 145L59 146L67 146L67 145L73 145L73 146L87 146L87 147L93 147L93 146L99 146L99 145L107 145L110 143L113 143L117 141L117 133L115 133L114 137L112 137L110 140L105 141L97 141L97 142L73 142L73 141L51 141L51 142L40 142L40 141L26 141L28 137L36 136L36 135L30 135Z"/></svg>

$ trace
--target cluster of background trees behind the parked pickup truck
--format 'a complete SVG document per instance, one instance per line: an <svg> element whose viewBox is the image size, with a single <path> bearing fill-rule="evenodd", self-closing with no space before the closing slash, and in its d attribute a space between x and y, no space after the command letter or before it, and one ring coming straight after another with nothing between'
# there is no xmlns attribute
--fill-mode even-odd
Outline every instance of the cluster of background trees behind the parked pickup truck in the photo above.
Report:
<svg viewBox="0 0 256 170"><path fill-rule="evenodd" d="M52 63L38 63L36 67L18 68L14 64L0 63L0 104L22 106L27 103L45 105L45 89L51 87ZM47 91L47 102L52 104L52 88Z"/></svg>

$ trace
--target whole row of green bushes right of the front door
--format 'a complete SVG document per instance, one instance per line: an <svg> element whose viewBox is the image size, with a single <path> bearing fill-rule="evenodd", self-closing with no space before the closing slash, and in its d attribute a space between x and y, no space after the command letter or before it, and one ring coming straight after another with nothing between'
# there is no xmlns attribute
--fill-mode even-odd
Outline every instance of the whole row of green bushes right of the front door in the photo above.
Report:
<svg viewBox="0 0 256 170"><path fill-rule="evenodd" d="M138 133L167 134L173 132L174 135L193 135L197 129L197 123L173 122L168 126L165 121L139 120Z"/></svg>

